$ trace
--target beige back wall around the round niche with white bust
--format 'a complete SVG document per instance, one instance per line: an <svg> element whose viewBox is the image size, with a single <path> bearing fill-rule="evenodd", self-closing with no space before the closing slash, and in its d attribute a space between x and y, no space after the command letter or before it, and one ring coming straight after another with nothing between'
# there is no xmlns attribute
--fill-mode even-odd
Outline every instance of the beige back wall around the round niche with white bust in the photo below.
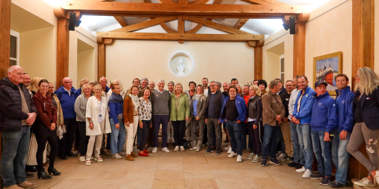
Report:
<svg viewBox="0 0 379 189"><path fill-rule="evenodd" d="M178 50L193 56L195 65L186 77L174 76L168 69L170 56ZM254 49L246 42L184 42L158 40L116 40L106 45L106 77L108 83L119 79L127 89L135 77L147 77L180 82L185 90L188 82L201 84L201 79L230 82L233 77L240 84L254 80ZM157 84L156 84L157 85ZM167 86L165 86L167 89ZM222 91L222 89L221 89Z"/></svg>

